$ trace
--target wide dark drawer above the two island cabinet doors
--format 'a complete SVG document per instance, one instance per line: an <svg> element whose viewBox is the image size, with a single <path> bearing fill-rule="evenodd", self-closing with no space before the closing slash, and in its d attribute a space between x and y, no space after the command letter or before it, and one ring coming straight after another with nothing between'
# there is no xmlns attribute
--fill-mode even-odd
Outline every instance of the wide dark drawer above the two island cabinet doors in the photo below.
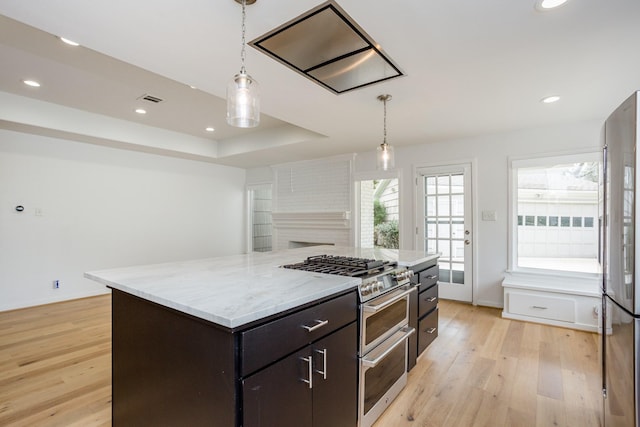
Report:
<svg viewBox="0 0 640 427"><path fill-rule="evenodd" d="M241 375L254 372L298 350L355 321L357 316L357 294L350 292L241 332Z"/></svg>

